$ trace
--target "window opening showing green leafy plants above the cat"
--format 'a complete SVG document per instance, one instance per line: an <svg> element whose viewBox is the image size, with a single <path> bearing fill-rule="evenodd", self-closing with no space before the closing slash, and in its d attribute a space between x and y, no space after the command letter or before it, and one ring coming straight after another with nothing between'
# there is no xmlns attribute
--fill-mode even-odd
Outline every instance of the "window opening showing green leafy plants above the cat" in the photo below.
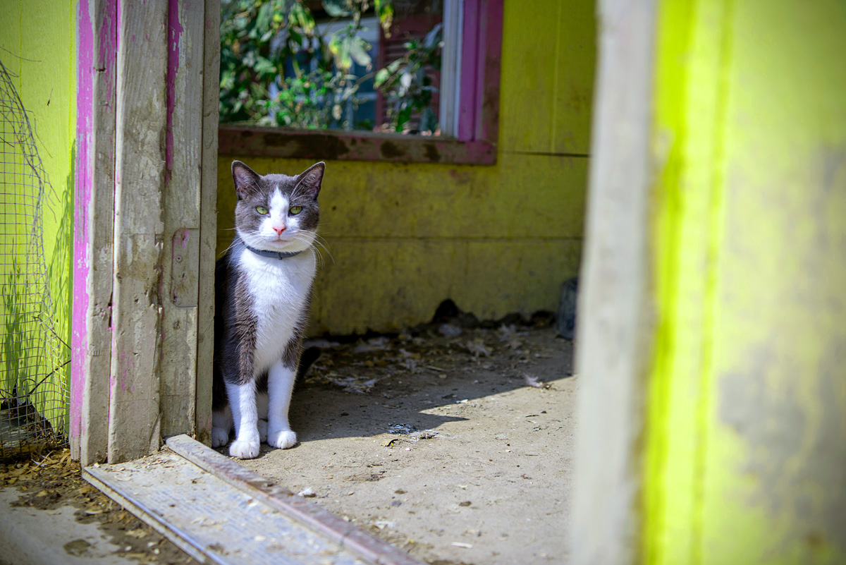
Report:
<svg viewBox="0 0 846 565"><path fill-rule="evenodd" d="M462 4L222 0L220 120L454 136Z"/></svg>

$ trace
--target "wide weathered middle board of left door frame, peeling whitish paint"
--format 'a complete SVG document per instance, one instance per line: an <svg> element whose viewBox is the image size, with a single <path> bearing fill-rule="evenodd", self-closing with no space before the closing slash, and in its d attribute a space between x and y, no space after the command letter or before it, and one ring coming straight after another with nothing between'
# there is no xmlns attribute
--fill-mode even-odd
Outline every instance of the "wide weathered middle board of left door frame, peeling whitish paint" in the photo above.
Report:
<svg viewBox="0 0 846 565"><path fill-rule="evenodd" d="M125 3L118 28L110 462L158 448L168 3ZM168 238L169 239L169 238Z"/></svg>

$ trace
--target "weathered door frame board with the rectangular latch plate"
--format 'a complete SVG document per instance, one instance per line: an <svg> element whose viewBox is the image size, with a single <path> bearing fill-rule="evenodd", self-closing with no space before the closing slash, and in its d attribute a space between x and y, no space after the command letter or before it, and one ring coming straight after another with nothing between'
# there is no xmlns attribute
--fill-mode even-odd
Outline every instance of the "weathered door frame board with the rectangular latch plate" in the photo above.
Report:
<svg viewBox="0 0 846 565"><path fill-rule="evenodd" d="M168 3L167 129L162 220L162 436L194 433L200 267L205 10ZM179 259L179 262L175 260ZM173 274L177 273L177 277ZM190 285L190 288L187 288ZM181 294L181 296L180 296ZM194 299L189 300L189 297ZM193 305L192 305L193 304Z"/></svg>

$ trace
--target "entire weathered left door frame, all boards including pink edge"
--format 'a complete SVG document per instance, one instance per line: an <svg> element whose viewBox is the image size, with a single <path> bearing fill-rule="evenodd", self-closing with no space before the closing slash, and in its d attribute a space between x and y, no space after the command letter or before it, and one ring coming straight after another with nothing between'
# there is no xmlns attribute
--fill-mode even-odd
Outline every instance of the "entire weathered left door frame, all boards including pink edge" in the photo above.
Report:
<svg viewBox="0 0 846 565"><path fill-rule="evenodd" d="M220 3L79 0L70 440L211 432Z"/></svg>

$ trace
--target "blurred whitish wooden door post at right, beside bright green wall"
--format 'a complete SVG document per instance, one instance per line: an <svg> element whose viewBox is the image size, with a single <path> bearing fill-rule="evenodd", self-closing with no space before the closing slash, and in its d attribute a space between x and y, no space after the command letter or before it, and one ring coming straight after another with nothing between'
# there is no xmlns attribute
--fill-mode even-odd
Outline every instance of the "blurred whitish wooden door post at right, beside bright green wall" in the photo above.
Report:
<svg viewBox="0 0 846 565"><path fill-rule="evenodd" d="M645 382L656 316L649 256L656 0L599 0L580 273L571 524L578 564L637 562Z"/></svg>

